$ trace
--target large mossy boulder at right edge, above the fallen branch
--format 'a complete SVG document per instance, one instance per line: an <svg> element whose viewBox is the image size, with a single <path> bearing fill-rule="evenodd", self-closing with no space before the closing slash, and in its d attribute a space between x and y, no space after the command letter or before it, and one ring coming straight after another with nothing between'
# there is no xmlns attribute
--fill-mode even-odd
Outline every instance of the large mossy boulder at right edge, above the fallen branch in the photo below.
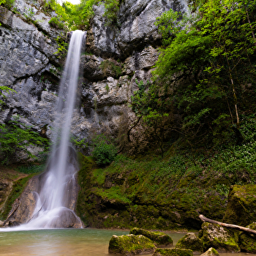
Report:
<svg viewBox="0 0 256 256"><path fill-rule="evenodd" d="M256 185L230 187L224 222L246 226L256 219Z"/></svg>

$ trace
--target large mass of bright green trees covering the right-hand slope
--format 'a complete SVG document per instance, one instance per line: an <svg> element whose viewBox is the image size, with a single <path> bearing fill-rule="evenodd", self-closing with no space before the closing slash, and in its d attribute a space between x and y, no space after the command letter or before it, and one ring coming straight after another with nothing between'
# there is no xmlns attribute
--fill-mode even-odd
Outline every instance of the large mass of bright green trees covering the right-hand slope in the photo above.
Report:
<svg viewBox="0 0 256 256"><path fill-rule="evenodd" d="M153 109L162 114L161 102L174 103L181 120L173 129L192 147L241 143L241 113L255 108L245 99L255 102L256 4L218 0L197 7L199 15L170 10L155 23L163 46L151 88L162 97Z"/></svg>

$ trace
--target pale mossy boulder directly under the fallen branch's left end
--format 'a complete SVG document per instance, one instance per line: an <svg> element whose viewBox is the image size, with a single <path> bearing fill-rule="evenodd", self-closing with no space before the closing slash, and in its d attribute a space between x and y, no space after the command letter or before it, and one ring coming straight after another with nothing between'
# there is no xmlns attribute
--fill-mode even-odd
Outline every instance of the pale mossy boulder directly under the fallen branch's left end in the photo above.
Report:
<svg viewBox="0 0 256 256"><path fill-rule="evenodd" d="M218 252L240 252L233 233L220 225L203 223L199 238L203 242L204 251L214 247Z"/></svg>

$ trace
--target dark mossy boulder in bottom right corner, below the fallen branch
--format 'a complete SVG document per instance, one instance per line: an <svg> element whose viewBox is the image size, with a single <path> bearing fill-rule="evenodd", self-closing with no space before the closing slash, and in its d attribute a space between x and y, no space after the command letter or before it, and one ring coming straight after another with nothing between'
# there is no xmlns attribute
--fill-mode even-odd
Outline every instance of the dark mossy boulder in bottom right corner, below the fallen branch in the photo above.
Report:
<svg viewBox="0 0 256 256"><path fill-rule="evenodd" d="M256 222L253 222L251 225L248 225L246 227L249 227L252 230L256 230ZM243 232L239 235L238 243L241 251L256 253L256 236Z"/></svg>

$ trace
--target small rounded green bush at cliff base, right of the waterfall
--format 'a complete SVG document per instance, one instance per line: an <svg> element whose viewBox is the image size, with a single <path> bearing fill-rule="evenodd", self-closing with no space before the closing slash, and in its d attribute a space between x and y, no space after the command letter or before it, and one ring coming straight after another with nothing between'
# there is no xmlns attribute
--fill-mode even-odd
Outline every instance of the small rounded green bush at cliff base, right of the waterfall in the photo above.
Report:
<svg viewBox="0 0 256 256"><path fill-rule="evenodd" d="M97 135L94 140L92 155L98 165L109 165L116 158L117 149L105 135Z"/></svg>

